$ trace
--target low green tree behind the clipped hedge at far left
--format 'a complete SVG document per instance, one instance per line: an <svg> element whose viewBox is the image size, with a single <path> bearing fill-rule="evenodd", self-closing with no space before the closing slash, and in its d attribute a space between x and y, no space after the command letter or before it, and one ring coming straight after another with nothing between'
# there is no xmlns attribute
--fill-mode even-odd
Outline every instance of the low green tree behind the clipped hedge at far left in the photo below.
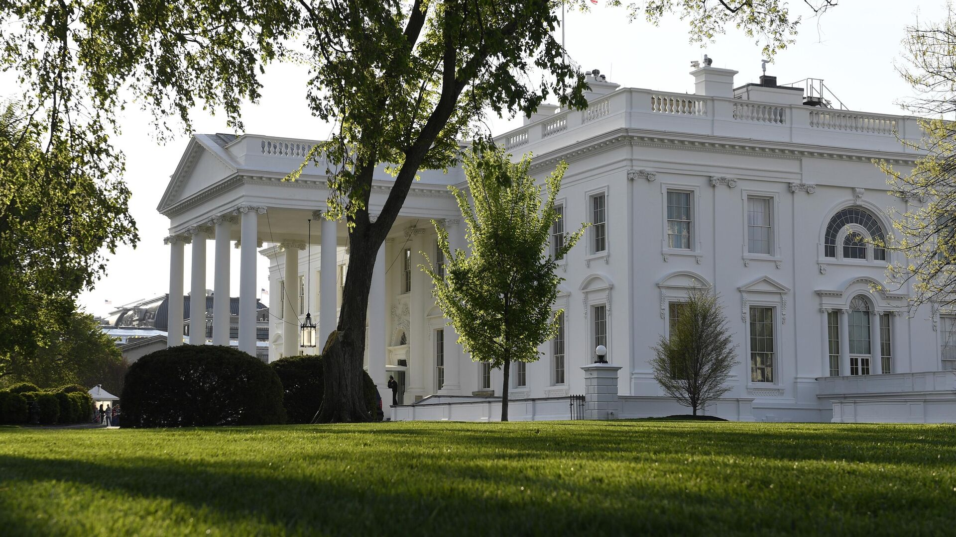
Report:
<svg viewBox="0 0 956 537"><path fill-rule="evenodd" d="M78 312L67 317L66 326L53 327L44 346L28 353L13 351L2 363L0 380L32 382L41 389L102 384L119 393L122 381L117 372L125 373L116 340L99 330L93 315Z"/></svg>

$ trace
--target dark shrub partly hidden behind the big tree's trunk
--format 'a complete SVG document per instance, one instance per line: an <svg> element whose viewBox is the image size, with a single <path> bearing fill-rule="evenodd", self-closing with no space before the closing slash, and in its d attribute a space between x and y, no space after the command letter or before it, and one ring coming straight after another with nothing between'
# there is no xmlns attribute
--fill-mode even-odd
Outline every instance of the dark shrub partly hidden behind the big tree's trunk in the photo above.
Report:
<svg viewBox="0 0 956 537"><path fill-rule="evenodd" d="M319 355L287 356L272 362L272 369L282 380L283 397L289 423L311 423L322 404L325 392L322 357ZM378 412L376 386L368 373L364 376L365 403L373 417Z"/></svg>

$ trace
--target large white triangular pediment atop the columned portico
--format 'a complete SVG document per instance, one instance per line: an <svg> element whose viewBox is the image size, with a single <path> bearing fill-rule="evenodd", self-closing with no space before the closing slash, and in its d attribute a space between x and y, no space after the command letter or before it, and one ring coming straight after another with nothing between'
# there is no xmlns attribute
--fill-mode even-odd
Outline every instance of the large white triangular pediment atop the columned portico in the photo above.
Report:
<svg viewBox="0 0 956 537"><path fill-rule="evenodd" d="M169 178L169 184L157 210L164 213L170 206L232 176L237 169L238 163L224 147L216 144L207 135L193 135L176 166L176 171Z"/></svg>

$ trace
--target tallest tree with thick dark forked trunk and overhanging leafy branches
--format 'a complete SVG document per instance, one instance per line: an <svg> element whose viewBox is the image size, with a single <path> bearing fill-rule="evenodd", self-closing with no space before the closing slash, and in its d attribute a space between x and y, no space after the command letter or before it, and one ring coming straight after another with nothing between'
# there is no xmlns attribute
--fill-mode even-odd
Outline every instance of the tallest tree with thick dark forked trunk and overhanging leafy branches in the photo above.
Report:
<svg viewBox="0 0 956 537"><path fill-rule="evenodd" d="M646 14L652 21L664 12L706 15L691 26L692 35L706 39L733 22L745 32L764 23L780 27L775 21L795 24L778 0L721 1L729 15L695 3L656 1ZM363 420L360 371L373 262L418 170L452 165L459 140L479 134L474 126L489 111L530 114L552 95L563 106L586 105L584 77L554 39L558 6L556 0L14 0L0 6L0 20L11 21L0 33L0 63L18 77L24 110L45 126L41 138L100 181L121 172L122 155L109 136L130 99L153 113L161 139L172 129L170 116L189 129L197 102L225 112L228 125L241 129L240 105L259 97L267 64L311 65L310 107L338 130L309 161L321 154L330 165L328 216L345 218L352 261L337 335L326 342L319 417ZM395 182L373 222L367 207L373 170L382 163Z"/></svg>

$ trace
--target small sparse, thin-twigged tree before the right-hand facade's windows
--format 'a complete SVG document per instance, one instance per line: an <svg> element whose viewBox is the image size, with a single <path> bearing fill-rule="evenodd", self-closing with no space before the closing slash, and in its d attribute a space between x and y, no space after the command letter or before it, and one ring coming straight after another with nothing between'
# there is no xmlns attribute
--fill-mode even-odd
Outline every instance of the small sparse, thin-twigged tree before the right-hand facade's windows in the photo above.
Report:
<svg viewBox="0 0 956 537"><path fill-rule="evenodd" d="M727 316L718 297L707 290L687 291L670 333L662 335L651 367L668 396L693 409L728 393L730 370L739 362L730 341Z"/></svg>

